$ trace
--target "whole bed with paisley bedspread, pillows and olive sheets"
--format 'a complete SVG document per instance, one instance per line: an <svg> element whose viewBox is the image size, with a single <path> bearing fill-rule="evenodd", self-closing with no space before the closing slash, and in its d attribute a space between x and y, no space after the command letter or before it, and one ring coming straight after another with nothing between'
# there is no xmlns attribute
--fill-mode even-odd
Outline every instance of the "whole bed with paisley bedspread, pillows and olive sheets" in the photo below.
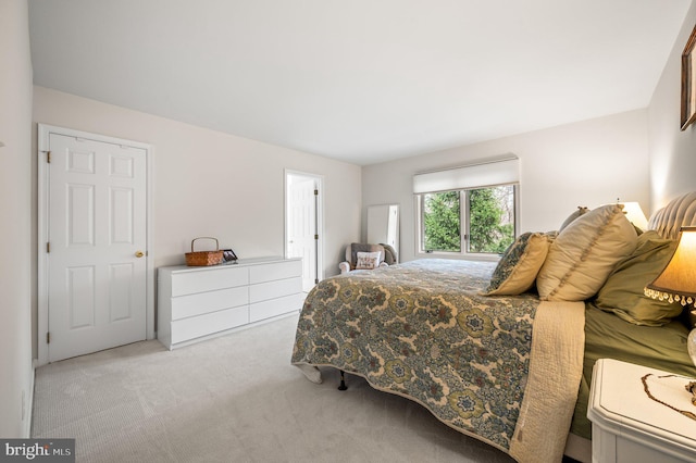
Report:
<svg viewBox="0 0 696 463"><path fill-rule="evenodd" d="M696 377L685 311L642 293L695 204L696 193L675 199L645 233L620 205L579 209L498 263L425 259L325 279L306 299L291 363L314 381L319 366L360 375L520 462L587 461L596 360Z"/></svg>

